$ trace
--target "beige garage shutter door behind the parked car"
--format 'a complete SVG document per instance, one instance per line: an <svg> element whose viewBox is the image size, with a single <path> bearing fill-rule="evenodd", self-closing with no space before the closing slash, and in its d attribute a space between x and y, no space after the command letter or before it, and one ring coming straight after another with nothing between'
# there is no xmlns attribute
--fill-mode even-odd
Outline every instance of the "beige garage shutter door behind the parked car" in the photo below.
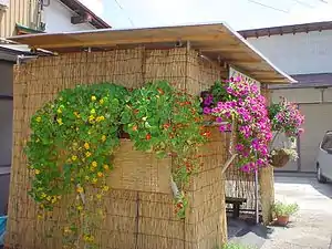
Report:
<svg viewBox="0 0 332 249"><path fill-rule="evenodd" d="M332 129L332 104L300 104L300 111L305 116L300 137L301 172L314 172L319 144Z"/></svg>

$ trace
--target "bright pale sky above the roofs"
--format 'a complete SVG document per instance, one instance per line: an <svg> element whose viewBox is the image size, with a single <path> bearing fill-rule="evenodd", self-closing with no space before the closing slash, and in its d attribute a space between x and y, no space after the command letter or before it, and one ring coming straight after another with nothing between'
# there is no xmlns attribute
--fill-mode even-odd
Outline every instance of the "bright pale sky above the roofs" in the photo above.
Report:
<svg viewBox="0 0 332 249"><path fill-rule="evenodd" d="M332 0L81 1L115 29L226 22L243 30L332 21Z"/></svg>

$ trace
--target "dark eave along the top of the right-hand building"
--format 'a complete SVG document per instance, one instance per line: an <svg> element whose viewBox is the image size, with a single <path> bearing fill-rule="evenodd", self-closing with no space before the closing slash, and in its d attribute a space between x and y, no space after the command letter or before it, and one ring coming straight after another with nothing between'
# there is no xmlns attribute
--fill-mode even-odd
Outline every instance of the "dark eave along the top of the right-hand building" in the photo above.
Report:
<svg viewBox="0 0 332 249"><path fill-rule="evenodd" d="M270 35L282 35L282 34L295 34L295 33L308 33L312 31L323 31L332 30L332 21L325 22L311 22L294 25L280 25L270 27L262 29L252 30L240 30L238 31L245 39L247 38L259 38L259 37L270 37Z"/></svg>

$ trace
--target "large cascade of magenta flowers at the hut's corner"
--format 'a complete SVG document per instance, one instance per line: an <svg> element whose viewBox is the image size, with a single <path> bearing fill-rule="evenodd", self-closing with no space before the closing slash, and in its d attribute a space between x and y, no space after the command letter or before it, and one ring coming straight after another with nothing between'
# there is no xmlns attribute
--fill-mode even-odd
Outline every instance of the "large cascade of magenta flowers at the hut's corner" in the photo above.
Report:
<svg viewBox="0 0 332 249"><path fill-rule="evenodd" d="M241 79L230 79L216 82L204 95L204 113L216 117L220 132L229 131L236 122L235 149L240 169L251 172L266 166L272 134L266 98L258 86Z"/></svg>

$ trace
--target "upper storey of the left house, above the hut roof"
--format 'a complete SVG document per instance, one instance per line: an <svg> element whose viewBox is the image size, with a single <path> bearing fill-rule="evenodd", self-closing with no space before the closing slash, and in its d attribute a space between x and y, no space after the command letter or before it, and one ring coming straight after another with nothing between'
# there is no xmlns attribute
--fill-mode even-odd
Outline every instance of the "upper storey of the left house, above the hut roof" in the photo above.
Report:
<svg viewBox="0 0 332 249"><path fill-rule="evenodd" d="M111 28L79 0L0 0L0 37Z"/></svg>

